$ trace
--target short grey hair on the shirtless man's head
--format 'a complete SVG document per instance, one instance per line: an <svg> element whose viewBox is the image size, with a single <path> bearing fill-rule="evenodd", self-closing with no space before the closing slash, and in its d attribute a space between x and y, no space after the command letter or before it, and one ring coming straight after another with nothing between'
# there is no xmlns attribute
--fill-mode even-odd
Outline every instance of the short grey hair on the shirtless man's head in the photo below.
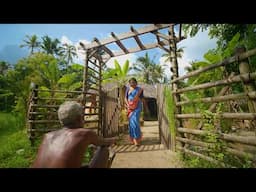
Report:
<svg viewBox="0 0 256 192"><path fill-rule="evenodd" d="M75 101L66 101L60 105L58 117L62 125L72 125L83 114L83 107Z"/></svg>

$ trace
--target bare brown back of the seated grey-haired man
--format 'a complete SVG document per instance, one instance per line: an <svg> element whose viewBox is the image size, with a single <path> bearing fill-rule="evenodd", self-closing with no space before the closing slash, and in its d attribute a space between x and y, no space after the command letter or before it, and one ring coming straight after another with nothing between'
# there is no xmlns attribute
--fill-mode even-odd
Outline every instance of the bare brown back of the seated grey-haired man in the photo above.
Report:
<svg viewBox="0 0 256 192"><path fill-rule="evenodd" d="M83 156L91 140L88 137L91 134L90 130L83 128L64 128L47 133L32 167L81 167Z"/></svg>

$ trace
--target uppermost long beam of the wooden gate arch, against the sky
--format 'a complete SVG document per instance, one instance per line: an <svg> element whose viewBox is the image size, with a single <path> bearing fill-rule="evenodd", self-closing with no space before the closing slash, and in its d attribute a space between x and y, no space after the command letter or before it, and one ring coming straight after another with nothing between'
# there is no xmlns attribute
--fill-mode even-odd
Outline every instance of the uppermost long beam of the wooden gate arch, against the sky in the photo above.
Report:
<svg viewBox="0 0 256 192"><path fill-rule="evenodd" d="M174 25L174 24L158 24L158 25L152 24L152 25L148 25L148 26L145 26L143 28L137 29L137 31L138 31L138 34L141 35L141 34L151 32L151 31L164 29L164 28L167 28L171 25ZM124 39L128 39L128 38L134 37L134 36L136 36L136 34L134 34L133 32L126 32L126 33L122 33L122 34L117 35L117 38L119 40L124 40ZM106 45L106 44L116 42L116 39L113 38L113 37L109 37L109 38L103 39L99 42L100 42L100 45ZM80 44L83 44L83 43L80 42ZM95 47L99 47L100 45L97 42L92 42L90 44L83 45L82 47L84 49L92 49L92 48L95 48Z"/></svg>

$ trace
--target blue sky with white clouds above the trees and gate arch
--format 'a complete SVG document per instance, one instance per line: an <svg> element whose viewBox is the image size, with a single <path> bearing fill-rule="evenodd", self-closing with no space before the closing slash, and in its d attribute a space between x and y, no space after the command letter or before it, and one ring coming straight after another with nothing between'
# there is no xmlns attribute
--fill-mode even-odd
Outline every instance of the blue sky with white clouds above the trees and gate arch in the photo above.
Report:
<svg viewBox="0 0 256 192"><path fill-rule="evenodd" d="M37 35L43 37L45 35L51 38L58 38L61 42L72 43L77 45L79 41L85 43L91 42L94 37L99 40L110 36L111 32L115 34L125 33L130 31L130 26L135 29L141 28L146 24L0 24L0 60L5 60L10 63L15 63L19 58L27 56L27 48L19 48L23 44L26 35ZM161 32L166 33L167 30ZM141 40L146 43L152 43L155 38L153 35L140 36ZM135 47L135 42L126 40L122 41L127 45L127 48ZM192 60L202 60L203 54L209 49L216 47L216 40L210 40L207 32L199 32L194 38L187 38L178 44L178 47L185 47L183 58L179 59L180 73L184 73L184 67ZM108 46L112 51L117 49L117 46ZM155 62L163 64L164 58L161 55L164 53L161 49L155 48L147 50L149 56L155 56ZM146 51L141 51L134 54L128 54L117 58L120 64L129 59L131 64L139 56L144 56ZM82 55L80 55L82 57ZM107 63L109 67L113 66L113 59ZM77 62L82 64L82 58L77 59ZM169 73L169 67L166 67L166 73Z"/></svg>

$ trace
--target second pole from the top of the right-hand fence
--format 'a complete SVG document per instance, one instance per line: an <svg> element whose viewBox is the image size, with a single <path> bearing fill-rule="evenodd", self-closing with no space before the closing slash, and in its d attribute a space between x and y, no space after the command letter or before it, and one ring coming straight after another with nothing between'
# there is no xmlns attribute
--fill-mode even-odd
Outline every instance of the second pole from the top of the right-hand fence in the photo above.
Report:
<svg viewBox="0 0 256 192"><path fill-rule="evenodd" d="M254 79L256 79L256 72L240 74L240 75L236 75L232 78L228 78L225 80L219 80L219 81L215 81L215 82L195 85L192 87L182 88L182 89L177 90L174 93L176 94L176 93L183 93L183 92L188 92L188 91L198 91L200 89L206 89L206 88L216 87L216 86L220 86L220 85L229 85L229 84L237 83L237 82L241 82L241 81L251 81Z"/></svg>

